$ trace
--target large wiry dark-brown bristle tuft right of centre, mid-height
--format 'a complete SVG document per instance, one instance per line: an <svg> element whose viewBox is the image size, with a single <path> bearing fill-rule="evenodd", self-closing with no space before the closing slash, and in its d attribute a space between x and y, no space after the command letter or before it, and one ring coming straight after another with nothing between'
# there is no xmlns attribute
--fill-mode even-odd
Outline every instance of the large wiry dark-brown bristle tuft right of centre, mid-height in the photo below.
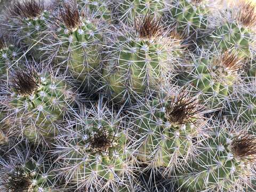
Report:
<svg viewBox="0 0 256 192"><path fill-rule="evenodd" d="M177 97L170 100L166 107L165 117L172 123L185 124L194 123L198 114L204 110L196 98L189 98L187 91L182 91Z"/></svg>

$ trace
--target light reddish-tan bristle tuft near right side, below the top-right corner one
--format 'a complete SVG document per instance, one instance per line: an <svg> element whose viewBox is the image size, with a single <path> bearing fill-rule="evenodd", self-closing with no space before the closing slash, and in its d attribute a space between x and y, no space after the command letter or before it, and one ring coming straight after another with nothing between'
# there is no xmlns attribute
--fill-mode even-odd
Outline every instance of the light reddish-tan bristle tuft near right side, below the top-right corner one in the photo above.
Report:
<svg viewBox="0 0 256 192"><path fill-rule="evenodd" d="M237 53L226 51L221 56L221 63L230 71L238 71L241 68L241 59L238 58Z"/></svg>

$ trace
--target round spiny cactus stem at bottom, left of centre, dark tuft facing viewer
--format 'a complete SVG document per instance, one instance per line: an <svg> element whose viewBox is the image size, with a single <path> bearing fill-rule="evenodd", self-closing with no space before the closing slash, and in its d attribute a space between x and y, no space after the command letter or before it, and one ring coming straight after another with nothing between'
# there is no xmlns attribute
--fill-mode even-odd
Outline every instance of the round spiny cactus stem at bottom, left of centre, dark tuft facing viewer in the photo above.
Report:
<svg viewBox="0 0 256 192"><path fill-rule="evenodd" d="M85 109L56 137L53 152L61 154L62 167L58 172L81 191L122 191L130 172L131 150L127 133L121 129L122 119L108 114L105 108L99 103L97 108Z"/></svg>

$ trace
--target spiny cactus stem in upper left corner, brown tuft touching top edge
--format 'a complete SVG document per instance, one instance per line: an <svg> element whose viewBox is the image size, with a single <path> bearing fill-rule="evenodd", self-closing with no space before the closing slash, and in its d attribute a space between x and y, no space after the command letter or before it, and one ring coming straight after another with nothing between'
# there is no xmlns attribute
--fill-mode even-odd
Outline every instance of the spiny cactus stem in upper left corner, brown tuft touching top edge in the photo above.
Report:
<svg viewBox="0 0 256 192"><path fill-rule="evenodd" d="M28 46L34 58L42 58L41 50L49 34L50 11L41 0L15 2L10 7L9 30L23 45Z"/></svg>

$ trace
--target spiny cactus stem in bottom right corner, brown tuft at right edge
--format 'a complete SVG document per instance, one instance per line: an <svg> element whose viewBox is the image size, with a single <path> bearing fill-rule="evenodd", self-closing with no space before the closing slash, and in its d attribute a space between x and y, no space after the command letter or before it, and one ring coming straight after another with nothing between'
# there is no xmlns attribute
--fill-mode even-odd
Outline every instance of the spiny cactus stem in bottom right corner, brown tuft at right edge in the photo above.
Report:
<svg viewBox="0 0 256 192"><path fill-rule="evenodd" d="M256 138L234 129L227 125L214 128L211 137L203 141L195 161L185 168L186 172L182 175L182 171L176 171L180 188L195 192L251 188Z"/></svg>

